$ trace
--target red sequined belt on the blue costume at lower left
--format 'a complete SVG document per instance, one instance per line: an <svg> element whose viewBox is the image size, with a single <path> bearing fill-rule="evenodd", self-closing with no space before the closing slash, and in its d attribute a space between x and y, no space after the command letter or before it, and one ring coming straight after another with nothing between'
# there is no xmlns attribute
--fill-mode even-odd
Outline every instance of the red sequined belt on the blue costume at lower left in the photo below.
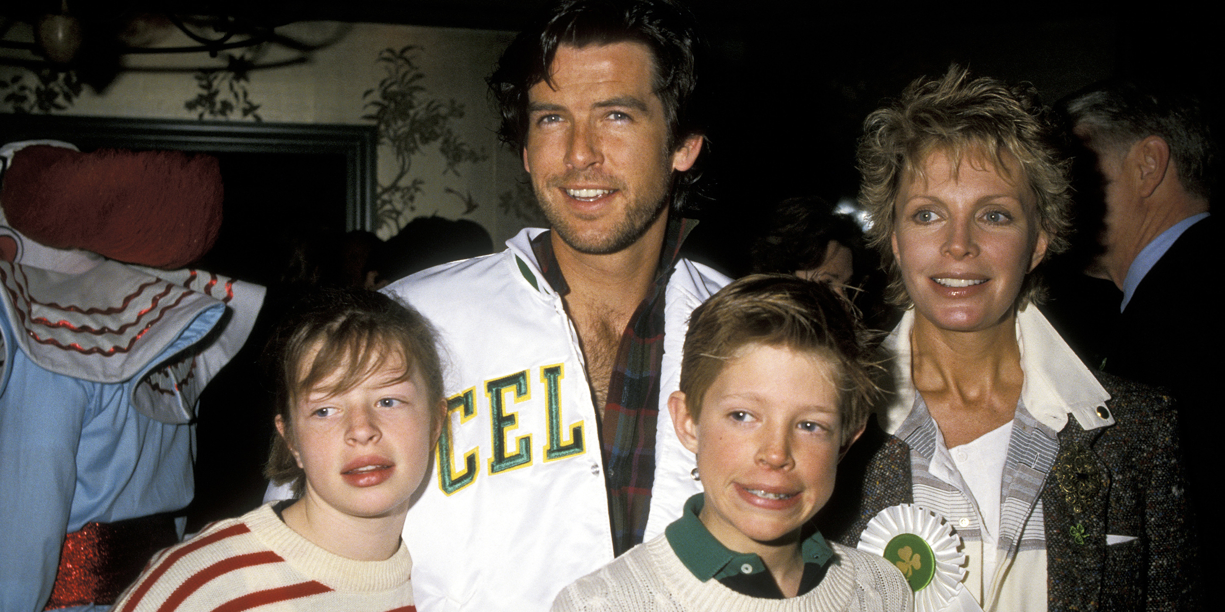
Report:
<svg viewBox="0 0 1225 612"><path fill-rule="evenodd" d="M86 523L64 539L55 586L43 610L114 603L157 551L178 541L169 514Z"/></svg>

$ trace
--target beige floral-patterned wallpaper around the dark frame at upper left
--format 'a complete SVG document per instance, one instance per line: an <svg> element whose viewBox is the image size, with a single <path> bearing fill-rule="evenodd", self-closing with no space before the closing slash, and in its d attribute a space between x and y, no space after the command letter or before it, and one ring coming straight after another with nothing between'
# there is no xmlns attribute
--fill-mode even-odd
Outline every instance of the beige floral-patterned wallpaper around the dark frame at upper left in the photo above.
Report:
<svg viewBox="0 0 1225 612"><path fill-rule="evenodd" d="M380 237L431 214L474 220L495 245L540 223L519 154L497 141L486 97L485 77L512 32L317 22L277 33L299 44L217 58L126 55L100 92L71 71L0 65L0 113L374 124ZM157 44L190 44L176 35Z"/></svg>

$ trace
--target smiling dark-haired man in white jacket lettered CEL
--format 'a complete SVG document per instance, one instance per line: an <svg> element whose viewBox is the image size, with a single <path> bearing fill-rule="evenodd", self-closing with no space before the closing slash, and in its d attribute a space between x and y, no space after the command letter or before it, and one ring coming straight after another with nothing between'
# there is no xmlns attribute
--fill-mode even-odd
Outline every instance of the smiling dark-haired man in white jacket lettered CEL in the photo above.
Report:
<svg viewBox="0 0 1225 612"><path fill-rule="evenodd" d="M696 45L668 1L571 0L490 77L552 229L387 289L452 370L437 477L404 526L421 610L546 610L701 491L660 411L690 311L728 280L677 258Z"/></svg>

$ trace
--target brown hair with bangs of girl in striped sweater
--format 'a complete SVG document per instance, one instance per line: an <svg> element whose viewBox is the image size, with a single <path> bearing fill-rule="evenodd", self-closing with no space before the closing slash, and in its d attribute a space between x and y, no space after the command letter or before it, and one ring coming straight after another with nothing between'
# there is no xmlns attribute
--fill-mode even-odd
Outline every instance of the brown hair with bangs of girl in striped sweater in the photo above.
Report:
<svg viewBox="0 0 1225 612"><path fill-rule="evenodd" d="M285 441L293 438L294 406L333 373L339 372L339 379L321 390L344 393L397 360L404 366L397 382L417 373L425 383L429 401L439 406L437 430L445 416L442 366L434 327L425 317L365 289L320 289L290 307L263 351L273 406L285 427L284 437L273 438L265 476L276 485L292 482L294 494L301 496L306 474Z"/></svg>

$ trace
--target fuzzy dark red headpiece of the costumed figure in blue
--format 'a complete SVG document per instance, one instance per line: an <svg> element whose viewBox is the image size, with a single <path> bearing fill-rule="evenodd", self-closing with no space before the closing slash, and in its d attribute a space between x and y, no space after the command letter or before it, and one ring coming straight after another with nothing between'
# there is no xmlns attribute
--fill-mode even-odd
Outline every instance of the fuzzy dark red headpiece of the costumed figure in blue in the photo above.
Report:
<svg viewBox="0 0 1225 612"><path fill-rule="evenodd" d="M0 203L13 229L43 245L181 268L217 240L222 175L212 155L36 144L13 154Z"/></svg>

